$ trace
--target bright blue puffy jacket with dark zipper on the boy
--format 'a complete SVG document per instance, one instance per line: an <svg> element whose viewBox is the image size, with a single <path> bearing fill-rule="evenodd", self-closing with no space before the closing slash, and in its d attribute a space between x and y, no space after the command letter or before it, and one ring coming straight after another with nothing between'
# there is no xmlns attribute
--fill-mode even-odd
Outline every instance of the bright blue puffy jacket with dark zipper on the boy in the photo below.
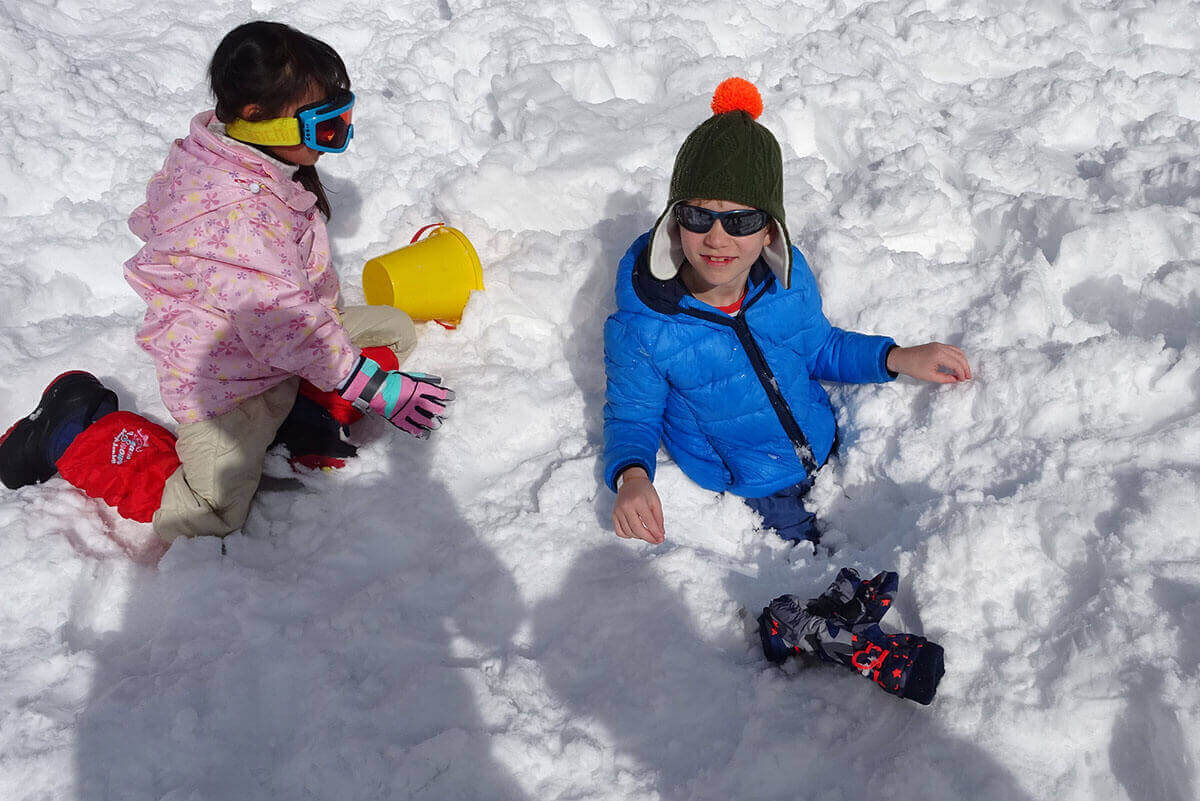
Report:
<svg viewBox="0 0 1200 801"><path fill-rule="evenodd" d="M644 234L617 270L605 323L605 481L641 465L654 477L661 440L697 484L762 498L824 464L836 434L818 383L895 378L889 337L842 331L821 312L816 279L792 248L791 289L760 259L742 311L728 315L654 278Z"/></svg>

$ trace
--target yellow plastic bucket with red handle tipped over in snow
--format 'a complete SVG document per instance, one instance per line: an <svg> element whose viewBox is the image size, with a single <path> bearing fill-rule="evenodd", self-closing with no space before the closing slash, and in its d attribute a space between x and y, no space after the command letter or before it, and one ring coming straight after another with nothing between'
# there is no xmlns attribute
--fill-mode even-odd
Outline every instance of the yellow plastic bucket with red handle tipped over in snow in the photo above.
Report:
<svg viewBox="0 0 1200 801"><path fill-rule="evenodd" d="M421 234L432 233L421 239ZM463 233L445 223L416 231L413 241L362 267L362 293L371 306L395 306L414 320L456 324L473 289L484 288L479 254Z"/></svg>

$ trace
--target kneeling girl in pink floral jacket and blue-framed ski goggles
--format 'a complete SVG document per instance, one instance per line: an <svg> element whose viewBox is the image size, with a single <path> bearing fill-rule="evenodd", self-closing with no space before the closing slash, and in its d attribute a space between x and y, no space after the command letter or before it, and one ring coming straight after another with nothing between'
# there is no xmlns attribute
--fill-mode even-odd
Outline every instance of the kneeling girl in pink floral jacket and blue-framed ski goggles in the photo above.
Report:
<svg viewBox="0 0 1200 801"><path fill-rule="evenodd" d="M353 452L330 427L374 411L424 438L454 398L436 377L398 372L416 344L408 315L338 307L316 164L354 135L342 59L287 25L247 23L209 78L216 109L150 180L130 217L145 245L125 265L176 434L73 371L0 439L7 487L59 472L166 542L241 528L277 435Z"/></svg>

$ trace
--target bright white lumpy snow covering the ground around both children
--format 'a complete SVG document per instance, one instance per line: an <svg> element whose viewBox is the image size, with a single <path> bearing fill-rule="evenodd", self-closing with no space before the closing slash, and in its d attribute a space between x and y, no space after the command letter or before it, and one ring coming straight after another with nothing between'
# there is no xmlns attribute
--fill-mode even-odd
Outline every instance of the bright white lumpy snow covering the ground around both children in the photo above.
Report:
<svg viewBox="0 0 1200 801"><path fill-rule="evenodd" d="M67 368L168 420L125 219L250 16L350 67L358 137L322 162L347 300L437 219L487 282L413 357L460 395L445 429L367 422L224 556L155 566L60 478L0 495L0 797L1200 794L1200 2L0 11L0 420ZM732 74L830 319L977 377L834 390L833 556L670 464L666 544L619 541L598 483L614 265ZM890 627L947 649L931 707L746 649L739 607L841 565L900 571Z"/></svg>

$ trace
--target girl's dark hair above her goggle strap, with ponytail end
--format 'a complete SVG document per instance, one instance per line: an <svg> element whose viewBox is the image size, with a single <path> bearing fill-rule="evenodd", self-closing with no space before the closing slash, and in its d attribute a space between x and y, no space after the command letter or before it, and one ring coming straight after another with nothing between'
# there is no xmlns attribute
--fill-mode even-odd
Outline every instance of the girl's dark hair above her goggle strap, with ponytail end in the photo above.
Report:
<svg viewBox="0 0 1200 801"><path fill-rule="evenodd" d="M233 122L248 104L259 120L278 116L313 88L326 97L350 88L350 76L337 52L319 38L282 23L253 22L234 28L217 44L209 64L209 84L217 119ZM329 198L316 167L299 167L296 180L317 195L317 207L330 217Z"/></svg>

